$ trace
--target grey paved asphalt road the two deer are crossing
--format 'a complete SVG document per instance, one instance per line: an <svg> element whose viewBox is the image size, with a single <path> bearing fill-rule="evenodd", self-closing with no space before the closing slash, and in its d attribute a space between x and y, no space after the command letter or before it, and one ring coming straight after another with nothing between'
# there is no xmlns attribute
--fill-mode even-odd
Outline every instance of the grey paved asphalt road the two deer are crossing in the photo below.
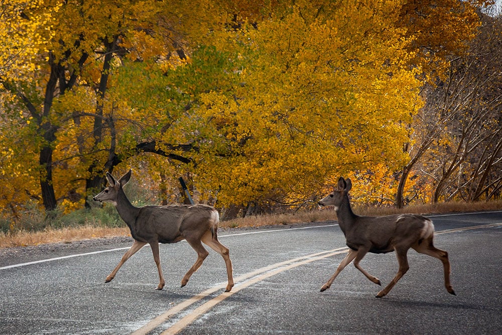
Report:
<svg viewBox="0 0 502 335"><path fill-rule="evenodd" d="M223 293L224 262L212 251L179 287L196 258L185 242L161 246L163 291L154 290L158 275L148 247L104 283L129 247L123 241L4 253L0 333L502 333L502 212L432 219L437 232L499 224L436 236L436 247L450 254L456 296L443 286L441 263L414 251L409 272L384 298L374 298L380 287L353 266L319 292L346 251L336 222L328 222L220 232L236 279L230 293ZM59 259L43 261L53 257ZM34 261L43 262L20 264ZM398 268L394 254L368 254L361 265L384 285Z"/></svg>

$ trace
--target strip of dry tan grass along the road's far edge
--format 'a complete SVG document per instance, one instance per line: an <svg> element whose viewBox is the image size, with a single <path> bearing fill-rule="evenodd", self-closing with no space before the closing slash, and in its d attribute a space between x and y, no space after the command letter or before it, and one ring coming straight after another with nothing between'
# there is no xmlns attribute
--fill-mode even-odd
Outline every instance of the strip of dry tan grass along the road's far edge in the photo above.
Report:
<svg viewBox="0 0 502 335"><path fill-rule="evenodd" d="M476 203L450 202L433 205L416 205L400 210L396 208L355 207L354 212L360 215L388 215L395 213L431 214L497 209L502 209L502 200ZM222 228L248 228L272 225L295 225L305 222L323 222L330 220L336 220L336 213L330 208L324 208L322 210L297 212L295 214L272 214L236 218L228 221L221 221L219 226ZM56 242L71 243L84 239L114 236L130 236L129 229L125 227L125 225L122 228L84 226L80 228L46 229L37 233L20 232L17 234L0 234L0 248L34 246Z"/></svg>

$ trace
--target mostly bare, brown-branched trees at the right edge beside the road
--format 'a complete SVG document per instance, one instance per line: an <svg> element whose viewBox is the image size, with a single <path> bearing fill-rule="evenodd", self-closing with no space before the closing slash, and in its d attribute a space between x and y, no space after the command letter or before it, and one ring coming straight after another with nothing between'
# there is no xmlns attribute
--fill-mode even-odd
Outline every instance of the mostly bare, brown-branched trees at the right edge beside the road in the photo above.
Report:
<svg viewBox="0 0 502 335"><path fill-rule="evenodd" d="M483 16L468 52L451 60L443 79L425 86L427 104L417 116L404 172L416 165L418 174L432 178L433 202L489 199L499 192L500 32L499 18Z"/></svg>

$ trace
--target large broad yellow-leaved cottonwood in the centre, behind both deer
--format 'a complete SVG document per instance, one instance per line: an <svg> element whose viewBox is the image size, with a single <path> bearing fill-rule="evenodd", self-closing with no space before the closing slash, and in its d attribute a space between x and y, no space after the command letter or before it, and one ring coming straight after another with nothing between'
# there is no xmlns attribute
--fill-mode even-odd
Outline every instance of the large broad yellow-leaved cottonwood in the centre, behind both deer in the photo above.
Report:
<svg viewBox="0 0 502 335"><path fill-rule="evenodd" d="M391 7L375 16L364 3L282 5L260 21L233 17L186 64L126 61L103 123L116 145L100 160L130 157L149 139L189 160L181 171L220 206L304 200L327 171L403 161L419 82L408 40L383 19ZM118 147L129 149L116 155Z"/></svg>

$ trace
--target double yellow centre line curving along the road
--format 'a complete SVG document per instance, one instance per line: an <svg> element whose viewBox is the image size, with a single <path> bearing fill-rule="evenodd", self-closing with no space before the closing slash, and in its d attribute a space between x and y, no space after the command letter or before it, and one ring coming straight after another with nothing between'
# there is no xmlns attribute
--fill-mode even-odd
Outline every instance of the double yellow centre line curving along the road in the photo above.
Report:
<svg viewBox="0 0 502 335"><path fill-rule="evenodd" d="M472 230L472 229L480 229L480 228L490 228L490 227L497 227L497 226L502 226L502 222L499 222L497 224L489 224L489 225L482 225L482 226L474 226L474 227L466 227L466 228L458 228L458 229L450 229L450 230L445 230L445 231L440 231L436 232L436 234L446 234L446 233L455 233L455 232L460 232L460 231L467 231L467 230ZM194 320L196 320L198 317L200 317L202 314L206 313L209 309L214 307L216 304L219 302L225 300L232 294L237 293L238 291L256 284L264 279L267 279L269 277L272 277L278 273L284 272L286 270L290 270L293 268L296 268L301 265L305 265L308 263L312 263L315 261L319 261L321 259L331 257L334 255L339 255L348 252L348 248L343 247L343 248L338 248L338 249L333 249L333 250L328 250L328 251L323 251L315 254L310 254L298 258L294 258L291 260L287 260L284 262L279 262L276 264L272 264L269 266L266 266L264 268L258 269L256 271L248 272L246 274L243 274L237 278L235 278L235 282L237 283L232 291L230 292L224 292L221 293L214 298L206 301L199 307L195 308L191 312L189 312L187 315L182 317L180 320L176 321L174 324L172 324L168 329L163 331L161 334L162 335L167 335L167 334L176 334L179 331L181 331L183 328L185 328L187 325L192 323ZM139 328L135 332L133 332L133 335L146 335L150 331L154 330L158 326L162 325L167 319L169 319L171 316L178 314L182 310L190 307L194 303L204 299L205 297L209 296L210 294L222 290L226 287L225 283L222 283L220 285L211 287L193 297L190 299L187 299L177 305L175 305L173 308L169 309L165 313L157 316L156 318L152 319L150 322L145 324L143 327Z"/></svg>

